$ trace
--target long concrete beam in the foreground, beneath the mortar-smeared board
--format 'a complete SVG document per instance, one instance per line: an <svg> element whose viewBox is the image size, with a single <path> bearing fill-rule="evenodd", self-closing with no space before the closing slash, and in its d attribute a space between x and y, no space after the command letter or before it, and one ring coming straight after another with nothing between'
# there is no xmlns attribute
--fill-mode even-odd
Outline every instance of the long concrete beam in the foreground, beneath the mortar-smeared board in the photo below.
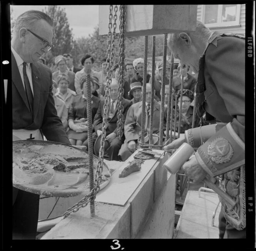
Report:
<svg viewBox="0 0 256 251"><path fill-rule="evenodd" d="M172 238L175 176L167 181L162 167L166 158L162 155L152 162L152 168L124 206L95 202L96 217L91 218L88 205L63 219L41 239Z"/></svg>

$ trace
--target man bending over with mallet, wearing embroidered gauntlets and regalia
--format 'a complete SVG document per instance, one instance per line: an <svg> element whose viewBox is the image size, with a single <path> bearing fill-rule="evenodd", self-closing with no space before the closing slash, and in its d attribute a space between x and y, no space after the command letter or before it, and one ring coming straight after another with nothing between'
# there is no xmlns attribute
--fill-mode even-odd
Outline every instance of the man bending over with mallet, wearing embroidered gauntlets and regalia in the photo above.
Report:
<svg viewBox="0 0 256 251"><path fill-rule="evenodd" d="M231 207L220 197L219 238L225 231L227 238L245 238L244 36L211 32L197 21L195 32L170 34L168 46L182 64L198 72L197 114L202 117L206 111L217 124L185 131L185 138L173 141L165 151L183 142L199 147L183 165L185 174L195 182L221 175L221 189L237 203Z"/></svg>

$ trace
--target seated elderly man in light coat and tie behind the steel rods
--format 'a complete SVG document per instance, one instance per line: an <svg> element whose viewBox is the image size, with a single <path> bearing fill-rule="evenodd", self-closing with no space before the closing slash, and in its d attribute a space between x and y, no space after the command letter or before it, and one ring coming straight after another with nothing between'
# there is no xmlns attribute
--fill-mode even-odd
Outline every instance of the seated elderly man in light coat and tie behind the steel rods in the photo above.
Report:
<svg viewBox="0 0 256 251"><path fill-rule="evenodd" d="M150 109L151 109L151 84L146 84L146 109L145 109L145 132L149 131L150 127ZM154 100L153 104L153 134L159 133L160 127L160 104ZM138 140L141 134L141 112L142 101L131 105L125 120L125 142L121 146L119 155L122 161L126 161L128 157L135 152L139 147ZM166 118L164 118L164 125L166 125ZM165 128L165 126L164 126ZM165 129L164 129L165 130Z"/></svg>

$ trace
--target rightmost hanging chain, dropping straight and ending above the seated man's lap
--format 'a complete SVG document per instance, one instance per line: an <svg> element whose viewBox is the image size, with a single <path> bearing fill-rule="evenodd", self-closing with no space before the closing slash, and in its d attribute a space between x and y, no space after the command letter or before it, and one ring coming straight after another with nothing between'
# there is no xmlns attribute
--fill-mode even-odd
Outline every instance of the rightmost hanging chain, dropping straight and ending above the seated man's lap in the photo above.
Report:
<svg viewBox="0 0 256 251"><path fill-rule="evenodd" d="M123 136L123 127L124 127L124 116L123 116L123 75L125 68L125 21L126 21L126 6L120 5L120 25L119 25L119 77L118 77L118 113L117 113L117 135L121 140Z"/></svg>

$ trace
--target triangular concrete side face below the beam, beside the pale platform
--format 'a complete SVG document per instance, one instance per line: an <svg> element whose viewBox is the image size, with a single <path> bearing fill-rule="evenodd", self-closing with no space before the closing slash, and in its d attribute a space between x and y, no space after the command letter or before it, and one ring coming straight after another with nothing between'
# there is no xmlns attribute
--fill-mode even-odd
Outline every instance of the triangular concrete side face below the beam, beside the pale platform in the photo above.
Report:
<svg viewBox="0 0 256 251"><path fill-rule="evenodd" d="M174 211L175 175L171 175L136 238L172 238L175 221Z"/></svg>

